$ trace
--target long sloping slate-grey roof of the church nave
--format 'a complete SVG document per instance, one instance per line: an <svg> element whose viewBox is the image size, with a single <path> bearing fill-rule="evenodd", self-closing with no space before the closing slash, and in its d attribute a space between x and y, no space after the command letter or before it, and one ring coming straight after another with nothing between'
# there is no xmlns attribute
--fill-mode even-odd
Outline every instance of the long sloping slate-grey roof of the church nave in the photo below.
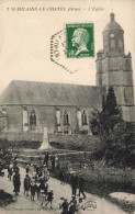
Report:
<svg viewBox="0 0 135 214"><path fill-rule="evenodd" d="M1 105L102 105L104 87L13 80L0 98Z"/></svg>

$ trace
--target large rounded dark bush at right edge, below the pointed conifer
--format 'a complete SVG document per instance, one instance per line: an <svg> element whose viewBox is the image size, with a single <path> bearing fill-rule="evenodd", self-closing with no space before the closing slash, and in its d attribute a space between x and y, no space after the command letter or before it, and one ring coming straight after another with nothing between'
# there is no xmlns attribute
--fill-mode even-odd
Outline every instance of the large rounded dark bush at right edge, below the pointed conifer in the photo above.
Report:
<svg viewBox="0 0 135 214"><path fill-rule="evenodd" d="M108 165L134 167L134 126L121 122L110 136L104 136L104 159Z"/></svg>

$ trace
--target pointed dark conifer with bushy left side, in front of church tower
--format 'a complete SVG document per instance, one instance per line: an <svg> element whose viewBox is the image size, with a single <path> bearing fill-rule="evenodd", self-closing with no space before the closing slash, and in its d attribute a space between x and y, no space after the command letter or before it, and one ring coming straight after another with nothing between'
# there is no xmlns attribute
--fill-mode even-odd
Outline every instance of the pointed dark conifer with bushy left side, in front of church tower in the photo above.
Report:
<svg viewBox="0 0 135 214"><path fill-rule="evenodd" d="M122 121L116 98L112 87L109 88L106 99L102 100L102 110L93 110L90 115L92 134L103 135L113 132L115 125Z"/></svg>

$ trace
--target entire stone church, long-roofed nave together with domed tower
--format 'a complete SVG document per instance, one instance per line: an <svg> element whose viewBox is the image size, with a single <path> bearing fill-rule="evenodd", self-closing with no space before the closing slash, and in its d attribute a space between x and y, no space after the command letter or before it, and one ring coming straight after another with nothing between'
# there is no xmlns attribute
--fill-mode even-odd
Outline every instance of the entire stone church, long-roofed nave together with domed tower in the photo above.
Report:
<svg viewBox="0 0 135 214"><path fill-rule="evenodd" d="M97 86L13 80L0 98L0 127L5 133L90 133L89 115L102 109L113 87L124 121L135 122L132 56L124 53L124 31L114 13L97 54Z"/></svg>

